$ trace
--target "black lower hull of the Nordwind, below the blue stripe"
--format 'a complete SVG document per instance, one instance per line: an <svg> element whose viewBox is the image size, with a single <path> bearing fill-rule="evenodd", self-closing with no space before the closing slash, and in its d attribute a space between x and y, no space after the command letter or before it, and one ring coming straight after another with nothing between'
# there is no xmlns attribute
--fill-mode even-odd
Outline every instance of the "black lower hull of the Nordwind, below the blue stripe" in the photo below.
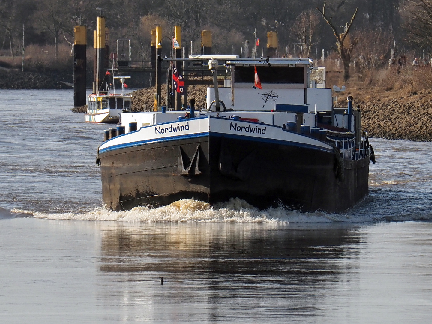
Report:
<svg viewBox="0 0 432 324"><path fill-rule="evenodd" d="M112 210L194 198L283 204L303 212L341 212L368 194L369 156L206 133L99 153L103 201Z"/></svg>

